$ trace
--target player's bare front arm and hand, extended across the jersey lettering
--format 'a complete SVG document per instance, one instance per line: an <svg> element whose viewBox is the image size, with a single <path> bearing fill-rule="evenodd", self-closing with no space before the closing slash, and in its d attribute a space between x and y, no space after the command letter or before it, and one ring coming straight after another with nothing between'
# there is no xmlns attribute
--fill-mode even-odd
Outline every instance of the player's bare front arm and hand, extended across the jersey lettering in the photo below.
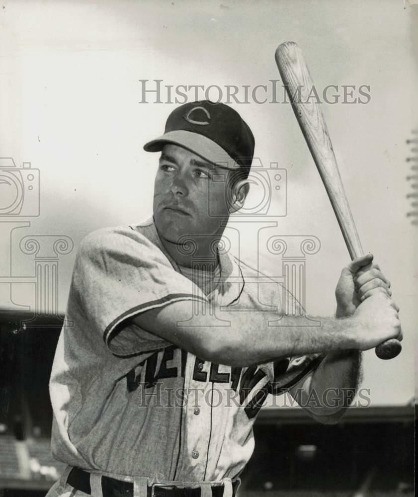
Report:
<svg viewBox="0 0 418 497"><path fill-rule="evenodd" d="M134 322L204 360L229 366L311 353L367 350L400 332L396 311L383 293L367 299L351 318L320 318L319 327L298 326L298 318L292 326L272 327L269 321L277 320L276 313L217 309L218 318L230 322L229 326L219 326L219 320L208 313L193 316L192 305L192 301L174 302L139 314ZM191 316L193 325L185 326Z"/></svg>

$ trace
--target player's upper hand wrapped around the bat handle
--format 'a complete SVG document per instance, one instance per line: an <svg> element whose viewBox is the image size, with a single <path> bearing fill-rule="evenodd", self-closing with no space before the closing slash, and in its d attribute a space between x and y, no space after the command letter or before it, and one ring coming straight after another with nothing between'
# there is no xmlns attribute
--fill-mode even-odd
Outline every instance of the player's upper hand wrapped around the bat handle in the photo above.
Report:
<svg viewBox="0 0 418 497"><path fill-rule="evenodd" d="M390 286L378 264L373 262L372 254L357 257L342 269L335 288L336 317L352 316L361 302L373 293L384 291L390 297Z"/></svg>

